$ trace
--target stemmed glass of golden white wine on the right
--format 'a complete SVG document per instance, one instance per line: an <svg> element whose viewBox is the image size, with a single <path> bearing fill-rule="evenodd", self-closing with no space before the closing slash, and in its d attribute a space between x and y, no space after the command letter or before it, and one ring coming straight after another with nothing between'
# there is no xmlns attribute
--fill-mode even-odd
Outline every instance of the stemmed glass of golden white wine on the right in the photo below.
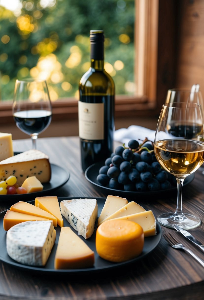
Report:
<svg viewBox="0 0 204 300"><path fill-rule="evenodd" d="M176 177L178 194L175 212L158 217L159 223L185 229L200 225L200 219L182 211L182 186L184 179L194 173L204 162L204 143L198 141L203 134L203 113L197 103L163 104L156 128L154 152L159 164Z"/></svg>

